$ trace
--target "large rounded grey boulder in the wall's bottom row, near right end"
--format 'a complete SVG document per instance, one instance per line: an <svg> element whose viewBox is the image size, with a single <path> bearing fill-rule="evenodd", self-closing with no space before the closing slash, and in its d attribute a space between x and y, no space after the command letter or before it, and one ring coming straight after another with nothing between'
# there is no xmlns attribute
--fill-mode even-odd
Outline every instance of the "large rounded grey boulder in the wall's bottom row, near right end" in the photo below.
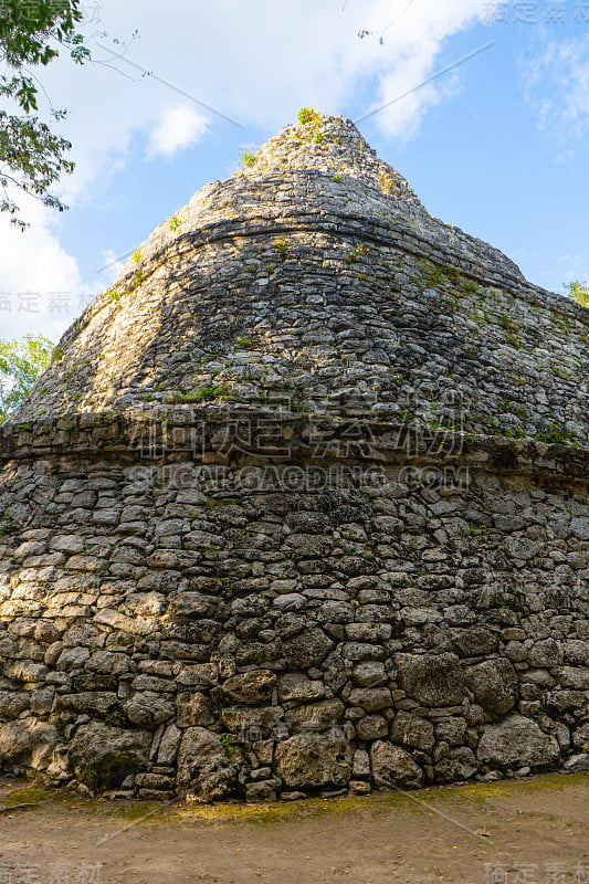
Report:
<svg viewBox="0 0 589 884"><path fill-rule="evenodd" d="M480 761L492 767L550 767L560 758L554 737L522 715L509 715L499 724L487 725L478 744Z"/></svg>

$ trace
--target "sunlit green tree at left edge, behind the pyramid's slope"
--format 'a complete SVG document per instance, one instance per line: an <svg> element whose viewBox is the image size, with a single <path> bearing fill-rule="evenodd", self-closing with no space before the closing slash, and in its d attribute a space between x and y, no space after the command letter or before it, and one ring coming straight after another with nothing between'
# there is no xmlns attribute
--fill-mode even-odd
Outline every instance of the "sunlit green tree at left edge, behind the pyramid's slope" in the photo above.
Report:
<svg viewBox="0 0 589 884"><path fill-rule="evenodd" d="M22 402L51 362L53 344L43 335L0 339L0 423Z"/></svg>

